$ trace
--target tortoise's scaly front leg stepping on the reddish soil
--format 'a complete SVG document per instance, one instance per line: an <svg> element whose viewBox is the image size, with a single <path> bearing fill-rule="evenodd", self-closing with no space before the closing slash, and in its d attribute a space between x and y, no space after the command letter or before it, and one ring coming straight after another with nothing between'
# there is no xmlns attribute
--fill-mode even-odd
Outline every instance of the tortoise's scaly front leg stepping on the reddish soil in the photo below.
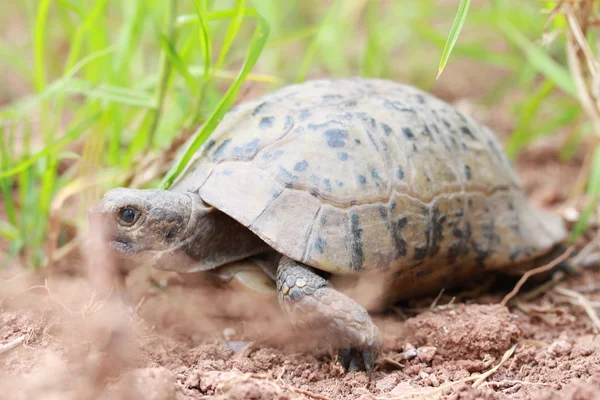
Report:
<svg viewBox="0 0 600 400"><path fill-rule="evenodd" d="M331 287L307 265L283 256L277 268L281 308L295 327L321 335L339 349L348 371L371 371L382 347L367 310Z"/></svg>

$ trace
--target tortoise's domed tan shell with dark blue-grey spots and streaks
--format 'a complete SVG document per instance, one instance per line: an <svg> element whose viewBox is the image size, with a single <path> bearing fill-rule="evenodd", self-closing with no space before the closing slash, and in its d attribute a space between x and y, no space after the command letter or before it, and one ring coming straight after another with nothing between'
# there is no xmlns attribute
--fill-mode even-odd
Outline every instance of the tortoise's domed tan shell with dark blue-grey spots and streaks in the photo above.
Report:
<svg viewBox="0 0 600 400"><path fill-rule="evenodd" d="M233 109L172 190L199 191L276 250L334 273L497 268L564 236L529 206L500 149L410 86L310 81Z"/></svg>

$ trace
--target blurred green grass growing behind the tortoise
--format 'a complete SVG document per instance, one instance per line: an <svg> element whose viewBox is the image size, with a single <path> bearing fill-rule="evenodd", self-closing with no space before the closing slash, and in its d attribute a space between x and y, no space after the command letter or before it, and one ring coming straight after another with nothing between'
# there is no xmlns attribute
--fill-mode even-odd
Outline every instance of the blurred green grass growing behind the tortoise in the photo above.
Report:
<svg viewBox="0 0 600 400"><path fill-rule="evenodd" d="M450 71L464 60L490 67L491 89L474 99L490 109L520 94L510 109L512 157L543 135L568 130L566 159L594 133L568 68L566 18L554 19L544 34L548 15L541 10L556 4L471 2L442 74L446 81L461 74L468 80L472 70ZM251 92L350 75L432 88L458 6L458 0L3 2L0 235L9 245L0 246L0 256L20 255L24 265L39 267L64 254L103 190L156 187L182 140L202 126L199 144Z"/></svg>

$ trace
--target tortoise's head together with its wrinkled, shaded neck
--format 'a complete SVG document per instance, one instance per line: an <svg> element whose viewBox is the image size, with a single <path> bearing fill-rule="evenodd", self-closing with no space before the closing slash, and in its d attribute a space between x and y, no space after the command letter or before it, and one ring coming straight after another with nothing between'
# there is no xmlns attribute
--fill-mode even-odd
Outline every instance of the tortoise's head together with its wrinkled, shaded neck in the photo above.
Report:
<svg viewBox="0 0 600 400"><path fill-rule="evenodd" d="M270 250L192 193L112 189L89 219L92 231L129 268L150 264L175 272L205 271Z"/></svg>

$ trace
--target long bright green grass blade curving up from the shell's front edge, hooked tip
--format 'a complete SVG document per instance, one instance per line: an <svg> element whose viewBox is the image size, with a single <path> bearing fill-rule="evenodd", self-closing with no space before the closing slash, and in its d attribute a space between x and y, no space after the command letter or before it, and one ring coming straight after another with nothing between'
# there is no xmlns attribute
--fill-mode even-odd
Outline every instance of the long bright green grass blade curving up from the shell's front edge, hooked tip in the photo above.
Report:
<svg viewBox="0 0 600 400"><path fill-rule="evenodd" d="M234 10L235 13L235 10ZM194 153L200 148L202 143L210 136L210 134L217 127L219 122L223 119L223 116L234 103L236 96L240 90L242 83L244 82L246 76L250 73L258 57L262 53L262 50L265 47L265 43L269 37L269 24L268 22L258 14L254 9L246 8L244 10L244 15L253 17L257 19L257 26L254 30L254 34L252 35L252 40L250 41L250 46L248 48L248 52L246 55L246 59L244 60L244 64L238 73L237 78L225 95L221 98L221 101L210 115L206 123L200 128L193 141L190 143L188 148L186 149L183 156L178 160L178 162L171 168L171 170L166 174L162 182L159 184L161 189L167 189L171 186L175 178L184 170L187 163L190 161Z"/></svg>

